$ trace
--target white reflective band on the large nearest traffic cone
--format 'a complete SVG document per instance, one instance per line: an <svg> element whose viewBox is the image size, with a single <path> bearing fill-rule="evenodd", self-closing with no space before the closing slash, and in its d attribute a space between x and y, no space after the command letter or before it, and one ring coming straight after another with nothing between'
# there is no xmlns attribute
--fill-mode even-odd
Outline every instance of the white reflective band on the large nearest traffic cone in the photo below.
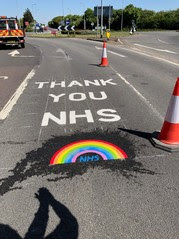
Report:
<svg viewBox="0 0 179 239"><path fill-rule="evenodd" d="M179 124L179 96L172 95L165 121Z"/></svg>

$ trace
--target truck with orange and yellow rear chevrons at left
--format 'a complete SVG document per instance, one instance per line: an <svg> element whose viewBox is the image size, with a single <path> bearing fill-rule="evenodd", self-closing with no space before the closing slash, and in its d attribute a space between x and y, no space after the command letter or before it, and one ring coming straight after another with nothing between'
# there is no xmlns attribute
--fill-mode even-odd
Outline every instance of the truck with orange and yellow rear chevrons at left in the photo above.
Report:
<svg viewBox="0 0 179 239"><path fill-rule="evenodd" d="M25 32L19 29L17 18L0 17L0 46L2 45L25 47Z"/></svg>

